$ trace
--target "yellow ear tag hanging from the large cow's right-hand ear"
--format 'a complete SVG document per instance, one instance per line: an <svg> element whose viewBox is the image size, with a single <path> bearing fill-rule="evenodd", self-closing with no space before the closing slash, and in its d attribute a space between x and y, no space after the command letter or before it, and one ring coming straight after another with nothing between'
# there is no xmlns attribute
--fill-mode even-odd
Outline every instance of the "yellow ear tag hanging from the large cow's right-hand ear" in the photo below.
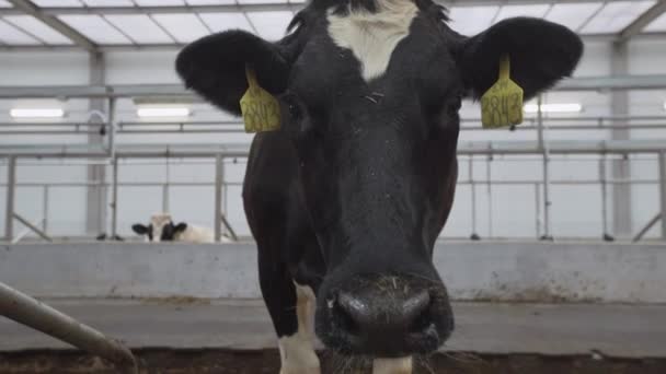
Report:
<svg viewBox="0 0 666 374"><path fill-rule="evenodd" d="M503 56L500 61L500 79L481 97L481 121L483 128L523 124L523 89L512 81L510 61Z"/></svg>

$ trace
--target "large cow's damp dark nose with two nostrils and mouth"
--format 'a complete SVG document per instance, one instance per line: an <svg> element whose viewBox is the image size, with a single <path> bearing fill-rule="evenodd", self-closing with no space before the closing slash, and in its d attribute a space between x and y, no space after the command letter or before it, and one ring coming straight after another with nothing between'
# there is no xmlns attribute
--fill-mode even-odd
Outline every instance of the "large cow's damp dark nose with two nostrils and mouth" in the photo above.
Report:
<svg viewBox="0 0 666 374"><path fill-rule="evenodd" d="M344 350L353 354L405 357L433 351L448 338L452 326L445 328L444 336L436 325L450 316L443 316L446 312L433 303L428 291L382 296L340 292L329 302L335 335L343 340Z"/></svg>

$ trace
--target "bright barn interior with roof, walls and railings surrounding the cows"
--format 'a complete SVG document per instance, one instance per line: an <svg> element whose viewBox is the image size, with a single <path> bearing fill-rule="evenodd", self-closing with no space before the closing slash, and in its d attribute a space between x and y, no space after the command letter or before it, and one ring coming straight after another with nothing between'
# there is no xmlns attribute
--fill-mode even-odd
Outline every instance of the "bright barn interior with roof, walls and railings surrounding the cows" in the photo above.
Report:
<svg viewBox="0 0 666 374"><path fill-rule="evenodd" d="M523 125L463 102L434 256L457 328L415 373L666 373L666 0L437 2L463 35L532 16L585 52ZM174 59L226 30L279 39L305 5L0 0L0 373L279 372L241 199L253 135ZM146 243L131 227L160 212L213 243Z"/></svg>

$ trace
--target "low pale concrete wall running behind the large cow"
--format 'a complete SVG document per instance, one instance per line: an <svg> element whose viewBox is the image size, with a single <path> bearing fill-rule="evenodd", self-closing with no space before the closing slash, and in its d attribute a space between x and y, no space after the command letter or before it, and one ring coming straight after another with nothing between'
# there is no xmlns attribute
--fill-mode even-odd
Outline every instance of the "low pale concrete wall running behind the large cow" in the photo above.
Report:
<svg viewBox="0 0 666 374"><path fill-rule="evenodd" d="M458 301L665 303L664 245L438 243ZM2 281L46 297L261 297L246 244L0 246Z"/></svg>

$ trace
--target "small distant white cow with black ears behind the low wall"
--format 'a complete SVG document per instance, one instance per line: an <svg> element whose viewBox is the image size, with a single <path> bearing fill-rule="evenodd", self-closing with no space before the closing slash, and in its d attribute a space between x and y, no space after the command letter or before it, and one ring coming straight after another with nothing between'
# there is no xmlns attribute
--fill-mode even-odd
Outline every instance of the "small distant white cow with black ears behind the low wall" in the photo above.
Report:
<svg viewBox="0 0 666 374"><path fill-rule="evenodd" d="M147 242L215 242L215 234L213 230L185 222L173 224L173 220L169 213L152 214L148 225L136 223L131 226L131 230L139 235L146 235Z"/></svg>

